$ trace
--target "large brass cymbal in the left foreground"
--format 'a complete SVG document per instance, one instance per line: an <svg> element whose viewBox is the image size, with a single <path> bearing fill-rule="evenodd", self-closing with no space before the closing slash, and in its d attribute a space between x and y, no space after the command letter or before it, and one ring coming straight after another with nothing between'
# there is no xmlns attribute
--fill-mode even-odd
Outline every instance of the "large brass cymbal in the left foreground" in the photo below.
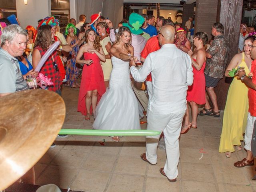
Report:
<svg viewBox="0 0 256 192"><path fill-rule="evenodd" d="M0 97L0 191L23 176L50 148L66 109L49 90L26 90Z"/></svg>

